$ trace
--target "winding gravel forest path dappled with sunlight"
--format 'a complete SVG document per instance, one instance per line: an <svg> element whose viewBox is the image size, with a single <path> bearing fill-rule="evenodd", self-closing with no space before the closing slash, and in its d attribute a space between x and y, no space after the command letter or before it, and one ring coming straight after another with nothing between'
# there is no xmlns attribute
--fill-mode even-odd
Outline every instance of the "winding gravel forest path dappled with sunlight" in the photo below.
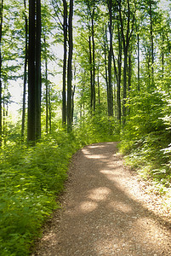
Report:
<svg viewBox="0 0 171 256"><path fill-rule="evenodd" d="M32 256L171 255L171 215L117 153L97 143L72 158L61 209Z"/></svg>

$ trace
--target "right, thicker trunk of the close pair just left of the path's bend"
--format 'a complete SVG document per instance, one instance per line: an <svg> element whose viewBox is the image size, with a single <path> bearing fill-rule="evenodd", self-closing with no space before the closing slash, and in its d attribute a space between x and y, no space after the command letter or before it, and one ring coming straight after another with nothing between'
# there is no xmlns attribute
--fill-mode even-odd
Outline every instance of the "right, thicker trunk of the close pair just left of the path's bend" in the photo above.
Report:
<svg viewBox="0 0 171 256"><path fill-rule="evenodd" d="M71 80L72 80L72 51L73 51L73 38L72 38L72 17L73 17L73 0L70 0L70 14L69 14L69 53L68 53L68 68L67 68L67 131L72 130L71 123Z"/></svg>

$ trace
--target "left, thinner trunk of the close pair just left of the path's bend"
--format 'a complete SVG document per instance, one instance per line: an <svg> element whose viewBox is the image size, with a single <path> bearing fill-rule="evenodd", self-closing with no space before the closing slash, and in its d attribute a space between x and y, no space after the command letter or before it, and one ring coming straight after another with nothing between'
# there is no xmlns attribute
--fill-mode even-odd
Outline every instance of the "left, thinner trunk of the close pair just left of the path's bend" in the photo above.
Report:
<svg viewBox="0 0 171 256"><path fill-rule="evenodd" d="M64 6L64 60L63 60L63 90L62 90L62 124L66 125L66 58L67 58L67 3L63 0Z"/></svg>

